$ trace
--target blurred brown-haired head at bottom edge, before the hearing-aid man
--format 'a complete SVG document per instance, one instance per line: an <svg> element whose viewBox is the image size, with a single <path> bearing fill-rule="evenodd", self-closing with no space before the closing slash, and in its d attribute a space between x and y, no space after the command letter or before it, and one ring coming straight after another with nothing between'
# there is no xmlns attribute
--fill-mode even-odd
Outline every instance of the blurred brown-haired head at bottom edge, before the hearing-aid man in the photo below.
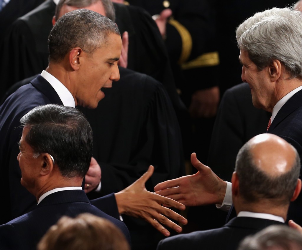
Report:
<svg viewBox="0 0 302 250"><path fill-rule="evenodd" d="M109 220L93 214L64 216L40 240L37 250L130 250L122 234Z"/></svg>

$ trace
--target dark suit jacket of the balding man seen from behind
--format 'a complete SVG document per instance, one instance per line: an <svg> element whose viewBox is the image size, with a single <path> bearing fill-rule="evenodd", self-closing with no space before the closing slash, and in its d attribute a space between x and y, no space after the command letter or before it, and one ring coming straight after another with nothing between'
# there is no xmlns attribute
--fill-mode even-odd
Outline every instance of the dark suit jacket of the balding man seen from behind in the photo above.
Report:
<svg viewBox="0 0 302 250"><path fill-rule="evenodd" d="M236 217L221 228L168 237L159 242L157 250L236 250L244 237L273 224L283 223L252 217Z"/></svg>

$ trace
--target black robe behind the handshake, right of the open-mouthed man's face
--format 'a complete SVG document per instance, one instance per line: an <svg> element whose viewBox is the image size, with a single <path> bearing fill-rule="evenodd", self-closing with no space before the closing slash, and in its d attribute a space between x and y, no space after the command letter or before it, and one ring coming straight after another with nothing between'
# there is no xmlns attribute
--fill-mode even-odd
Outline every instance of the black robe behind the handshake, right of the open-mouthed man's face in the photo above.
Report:
<svg viewBox="0 0 302 250"><path fill-rule="evenodd" d="M146 183L149 191L154 191L159 182L185 175L177 117L162 84L145 74L120 68L120 81L103 91L105 98L96 109L80 108L92 126L93 156L102 171L101 193L91 192L88 197L126 188L149 165L155 167ZM164 237L141 219L125 215L123 219L133 250L155 249Z"/></svg>

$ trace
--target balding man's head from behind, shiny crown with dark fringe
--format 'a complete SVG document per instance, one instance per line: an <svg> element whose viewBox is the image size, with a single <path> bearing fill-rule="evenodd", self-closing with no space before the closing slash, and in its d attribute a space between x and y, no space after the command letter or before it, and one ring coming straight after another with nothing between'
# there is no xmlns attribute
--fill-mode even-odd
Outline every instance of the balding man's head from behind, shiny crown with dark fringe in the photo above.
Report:
<svg viewBox="0 0 302 250"><path fill-rule="evenodd" d="M246 202L263 199L289 204L300 173L297 150L274 134L259 134L250 139L236 158L240 196Z"/></svg>

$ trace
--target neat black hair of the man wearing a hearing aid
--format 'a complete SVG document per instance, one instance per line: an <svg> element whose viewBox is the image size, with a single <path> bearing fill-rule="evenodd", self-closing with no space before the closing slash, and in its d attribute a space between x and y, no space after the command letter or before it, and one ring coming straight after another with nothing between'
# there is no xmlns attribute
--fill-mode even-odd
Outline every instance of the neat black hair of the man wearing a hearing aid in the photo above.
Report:
<svg viewBox="0 0 302 250"><path fill-rule="evenodd" d="M25 141L34 157L49 153L63 176L85 176L92 157L92 128L82 112L47 104L32 109L20 122L30 128Z"/></svg>

